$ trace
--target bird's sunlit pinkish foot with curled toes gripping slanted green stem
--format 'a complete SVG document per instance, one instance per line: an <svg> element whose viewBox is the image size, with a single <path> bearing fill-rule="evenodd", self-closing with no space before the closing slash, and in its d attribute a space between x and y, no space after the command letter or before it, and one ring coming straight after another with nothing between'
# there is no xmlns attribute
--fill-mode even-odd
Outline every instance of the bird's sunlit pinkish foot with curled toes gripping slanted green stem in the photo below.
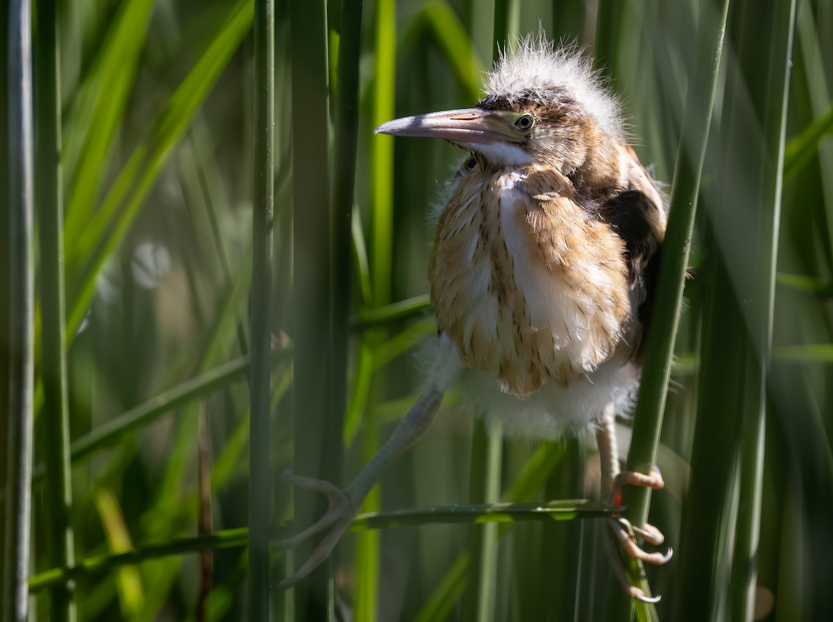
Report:
<svg viewBox="0 0 833 622"><path fill-rule="evenodd" d="M656 466L651 470L650 475L636 471L622 471L616 475L616 478L613 481L610 497L608 499L608 502L611 503L611 505L620 505L621 489L622 486L626 485L647 486L653 490L660 490L662 486L665 486L665 482L662 481L662 475ZM621 516L611 516L611 518L608 519L607 524L611 538L608 539L606 550L608 552L608 556L611 558L611 565L613 567L613 572L616 575L616 579L619 580L619 583L625 590L626 595L633 599L642 600L647 603L658 602L660 600L659 596L646 596L641 588L633 585L631 581L628 580L619 552L616 550L616 546L614 546L613 543L618 545L619 549L624 551L625 555L631 557L631 559L639 560L651 565L663 565L668 560L671 560L671 555L674 553L674 551L671 550L671 547L668 547L665 554L659 552L648 553L636 543L636 536L641 536L641 538L643 538L648 544L654 546L660 546L665 541L665 536L663 536L661 531L655 526L648 525L647 523L641 527L633 526L630 521L627 521L627 519Z"/></svg>

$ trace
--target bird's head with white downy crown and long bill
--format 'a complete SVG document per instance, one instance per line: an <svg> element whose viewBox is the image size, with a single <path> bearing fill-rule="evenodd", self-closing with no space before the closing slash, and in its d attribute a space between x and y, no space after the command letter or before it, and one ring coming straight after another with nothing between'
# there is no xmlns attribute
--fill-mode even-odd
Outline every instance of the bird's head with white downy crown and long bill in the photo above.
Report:
<svg viewBox="0 0 833 622"><path fill-rule="evenodd" d="M490 165L549 165L568 173L622 135L619 106L591 63L542 35L518 42L486 78L473 108L388 121L376 133L442 138Z"/></svg>

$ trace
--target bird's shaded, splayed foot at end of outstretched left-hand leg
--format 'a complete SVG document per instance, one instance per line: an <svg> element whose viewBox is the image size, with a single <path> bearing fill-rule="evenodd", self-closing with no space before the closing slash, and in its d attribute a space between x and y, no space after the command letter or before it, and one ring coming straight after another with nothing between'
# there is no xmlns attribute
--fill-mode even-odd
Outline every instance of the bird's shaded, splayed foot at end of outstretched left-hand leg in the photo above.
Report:
<svg viewBox="0 0 833 622"><path fill-rule="evenodd" d="M342 539L347 527L352 523L353 518L356 517L358 507L356 501L352 499L347 491L342 490L335 484L329 481L317 480L314 477L306 477L296 475L292 471L284 471L283 480L288 481L292 486L303 488L307 491L320 492L327 497L328 507L324 516L318 519L315 525L307 527L301 533L287 538L279 542L277 548L281 550L294 549L302 542L309 540L320 531L327 531L327 535L323 537L322 541L318 543L315 550L309 556L306 562L297 570L297 572L282 580L278 584L279 590L286 590L292 587L305 576L309 575L312 570L315 570L318 565L321 565L327 557L330 556L332 550L336 548L338 541Z"/></svg>

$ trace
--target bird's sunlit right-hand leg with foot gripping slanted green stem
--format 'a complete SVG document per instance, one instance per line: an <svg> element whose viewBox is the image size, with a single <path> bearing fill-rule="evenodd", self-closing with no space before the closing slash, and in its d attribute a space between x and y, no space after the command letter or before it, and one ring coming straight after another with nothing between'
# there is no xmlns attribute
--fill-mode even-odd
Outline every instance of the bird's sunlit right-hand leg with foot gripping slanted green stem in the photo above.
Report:
<svg viewBox="0 0 833 622"><path fill-rule="evenodd" d="M601 461L601 499L610 506L618 506L622 486L648 486L654 490L661 489L665 485L662 481L660 471L656 466L651 470L651 475L645 475L636 471L619 471L619 451L616 447L616 412L612 403L605 407L596 427L596 443L599 446L599 458ZM662 565L671 559L671 548L663 555L661 553L648 553L636 544L636 535L643 537L652 545L661 545L665 540L661 532L655 526L645 525L641 527L632 526L626 518L611 516L608 521L612 539L606 539L605 550L611 558L611 565L616 578L621 583L626 594L637 600L656 602L659 597L648 598L636 585L632 585L627 579L625 569L622 566L621 558L616 542L626 555L635 560L647 564Z"/></svg>

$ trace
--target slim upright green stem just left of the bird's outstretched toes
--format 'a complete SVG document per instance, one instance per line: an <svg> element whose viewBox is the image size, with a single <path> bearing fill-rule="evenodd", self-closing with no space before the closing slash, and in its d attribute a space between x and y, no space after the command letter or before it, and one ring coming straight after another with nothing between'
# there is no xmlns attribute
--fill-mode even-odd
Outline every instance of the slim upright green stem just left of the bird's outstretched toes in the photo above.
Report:
<svg viewBox="0 0 833 622"><path fill-rule="evenodd" d="M269 617L270 353L272 348L272 219L275 108L275 12L273 0L255 0L252 217L252 418L249 430L249 620Z"/></svg>

